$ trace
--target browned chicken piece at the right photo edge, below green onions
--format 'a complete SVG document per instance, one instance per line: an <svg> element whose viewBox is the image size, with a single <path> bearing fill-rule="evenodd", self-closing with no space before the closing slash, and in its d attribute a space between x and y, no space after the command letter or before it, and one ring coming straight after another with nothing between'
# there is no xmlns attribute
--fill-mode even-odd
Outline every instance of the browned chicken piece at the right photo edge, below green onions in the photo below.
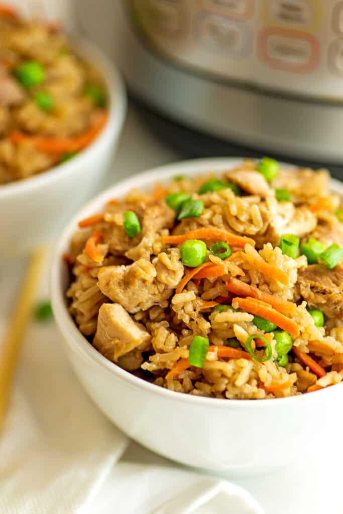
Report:
<svg viewBox="0 0 343 514"><path fill-rule="evenodd" d="M343 268L328 269L312 264L298 270L296 287L310 307L318 307L329 318L343 319Z"/></svg>

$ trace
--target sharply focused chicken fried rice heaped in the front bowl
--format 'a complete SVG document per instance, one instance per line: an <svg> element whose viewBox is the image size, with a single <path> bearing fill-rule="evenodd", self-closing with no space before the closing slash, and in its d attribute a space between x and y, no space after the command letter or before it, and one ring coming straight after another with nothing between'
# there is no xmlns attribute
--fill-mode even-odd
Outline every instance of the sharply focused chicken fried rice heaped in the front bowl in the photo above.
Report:
<svg viewBox="0 0 343 514"><path fill-rule="evenodd" d="M244 161L83 219L70 313L107 359L172 391L262 399L343 378L343 226L326 170Z"/></svg>

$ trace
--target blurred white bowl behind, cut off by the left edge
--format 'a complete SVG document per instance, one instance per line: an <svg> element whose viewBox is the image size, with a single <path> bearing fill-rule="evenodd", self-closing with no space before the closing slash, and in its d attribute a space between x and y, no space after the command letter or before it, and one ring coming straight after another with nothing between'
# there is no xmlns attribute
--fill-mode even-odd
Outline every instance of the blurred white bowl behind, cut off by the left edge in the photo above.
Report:
<svg viewBox="0 0 343 514"><path fill-rule="evenodd" d="M93 45L80 53L96 63L109 94L109 118L94 143L73 159L39 175L0 185L0 250L25 252L50 240L70 214L97 191L109 169L126 113L126 95L117 70Z"/></svg>

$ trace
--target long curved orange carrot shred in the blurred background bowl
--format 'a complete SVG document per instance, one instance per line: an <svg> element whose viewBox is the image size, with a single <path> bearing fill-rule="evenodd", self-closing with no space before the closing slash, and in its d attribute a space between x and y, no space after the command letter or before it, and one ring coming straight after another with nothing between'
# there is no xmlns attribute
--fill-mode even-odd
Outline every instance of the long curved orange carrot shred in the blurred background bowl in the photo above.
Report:
<svg viewBox="0 0 343 514"><path fill-rule="evenodd" d="M101 132L105 122L107 120L107 113L105 111L99 111L88 130L76 137L43 137L43 136L30 136L20 131L15 131L10 134L10 140L15 143L21 143L22 141L32 141L37 150L42 152L59 154L64 152L78 152L88 146Z"/></svg>

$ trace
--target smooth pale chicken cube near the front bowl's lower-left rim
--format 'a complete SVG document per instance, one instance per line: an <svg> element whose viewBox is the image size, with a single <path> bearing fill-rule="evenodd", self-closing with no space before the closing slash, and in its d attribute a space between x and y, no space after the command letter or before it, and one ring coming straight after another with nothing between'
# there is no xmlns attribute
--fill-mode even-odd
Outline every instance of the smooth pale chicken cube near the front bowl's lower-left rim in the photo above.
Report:
<svg viewBox="0 0 343 514"><path fill-rule="evenodd" d="M119 303L104 303L99 309L94 346L112 361L131 352L140 345L147 345L151 335L131 319Z"/></svg>

